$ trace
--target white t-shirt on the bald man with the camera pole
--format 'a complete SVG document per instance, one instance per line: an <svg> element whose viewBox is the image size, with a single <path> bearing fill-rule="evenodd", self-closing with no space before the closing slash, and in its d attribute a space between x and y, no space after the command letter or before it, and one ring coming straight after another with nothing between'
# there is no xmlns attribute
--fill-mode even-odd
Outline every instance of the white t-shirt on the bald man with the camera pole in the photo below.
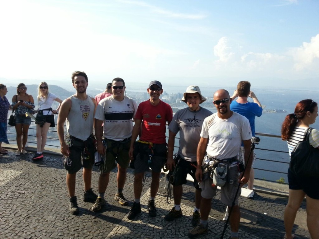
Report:
<svg viewBox="0 0 319 239"><path fill-rule="evenodd" d="M241 141L252 138L248 119L236 112L227 120L217 113L208 116L200 136L208 139L207 155L219 160L237 156Z"/></svg>

